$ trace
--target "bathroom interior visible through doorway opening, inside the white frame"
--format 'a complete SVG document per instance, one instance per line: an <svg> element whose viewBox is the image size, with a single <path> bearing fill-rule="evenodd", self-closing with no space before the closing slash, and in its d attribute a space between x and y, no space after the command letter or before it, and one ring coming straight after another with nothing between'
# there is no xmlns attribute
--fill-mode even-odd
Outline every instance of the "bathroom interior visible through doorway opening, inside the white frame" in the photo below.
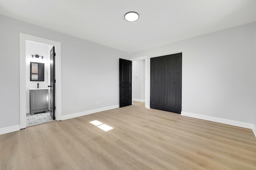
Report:
<svg viewBox="0 0 256 170"><path fill-rule="evenodd" d="M55 119L50 116L54 96L48 88L50 74L54 71L50 62L53 48L52 45L26 40L26 127Z"/></svg>

